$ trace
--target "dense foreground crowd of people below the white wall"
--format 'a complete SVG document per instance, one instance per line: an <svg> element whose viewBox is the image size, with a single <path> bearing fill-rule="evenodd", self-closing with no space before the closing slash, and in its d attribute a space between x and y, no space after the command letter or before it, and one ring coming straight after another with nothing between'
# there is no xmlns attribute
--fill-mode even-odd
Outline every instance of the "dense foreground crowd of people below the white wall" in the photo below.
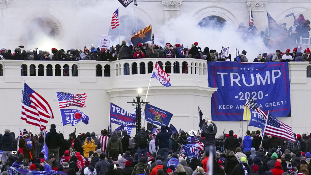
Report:
<svg viewBox="0 0 311 175"><path fill-rule="evenodd" d="M306 134L295 134L295 142L262 137L259 130L248 130L244 137L234 135L233 130L216 136L212 120L198 132L172 134L166 125L158 129L150 134L143 127L135 137L126 130L110 133L104 129L99 138L95 132L76 137L74 130L64 139L52 124L45 138L42 132L33 135L24 129L19 140L6 129L0 135L2 175L10 167L67 175L207 175L209 171L217 175L311 175L311 138ZM44 140L46 158L41 151ZM195 143L203 143L205 149L189 158L183 146Z"/></svg>

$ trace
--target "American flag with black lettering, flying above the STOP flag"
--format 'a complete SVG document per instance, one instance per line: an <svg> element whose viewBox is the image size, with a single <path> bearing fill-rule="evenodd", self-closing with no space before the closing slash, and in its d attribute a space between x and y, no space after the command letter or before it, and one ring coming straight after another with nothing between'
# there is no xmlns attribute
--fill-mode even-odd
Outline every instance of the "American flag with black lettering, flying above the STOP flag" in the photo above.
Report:
<svg viewBox="0 0 311 175"><path fill-rule="evenodd" d="M72 94L68 92L56 92L58 107L64 108L69 106L85 107L86 94Z"/></svg>

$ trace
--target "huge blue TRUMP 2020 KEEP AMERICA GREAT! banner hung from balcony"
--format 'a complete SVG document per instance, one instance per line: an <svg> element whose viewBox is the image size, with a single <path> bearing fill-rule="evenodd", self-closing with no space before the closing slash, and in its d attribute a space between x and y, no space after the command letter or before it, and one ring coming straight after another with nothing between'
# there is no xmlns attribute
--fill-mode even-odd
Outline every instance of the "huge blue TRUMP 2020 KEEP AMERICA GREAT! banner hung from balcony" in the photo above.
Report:
<svg viewBox="0 0 311 175"><path fill-rule="evenodd" d="M212 120L243 119L248 97L275 116L290 116L288 62L207 63L209 87L218 87L211 98Z"/></svg>

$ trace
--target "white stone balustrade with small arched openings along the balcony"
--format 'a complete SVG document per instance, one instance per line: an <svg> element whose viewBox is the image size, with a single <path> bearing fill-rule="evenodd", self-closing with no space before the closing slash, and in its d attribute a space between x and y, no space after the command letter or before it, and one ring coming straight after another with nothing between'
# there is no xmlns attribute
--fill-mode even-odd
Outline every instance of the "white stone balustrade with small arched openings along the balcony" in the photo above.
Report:
<svg viewBox="0 0 311 175"><path fill-rule="evenodd" d="M80 82L94 82L96 77L151 73L156 61L169 74L206 75L207 71L205 60L191 58L124 59L113 62L2 60L0 81L21 82L22 77L78 77Z"/></svg>

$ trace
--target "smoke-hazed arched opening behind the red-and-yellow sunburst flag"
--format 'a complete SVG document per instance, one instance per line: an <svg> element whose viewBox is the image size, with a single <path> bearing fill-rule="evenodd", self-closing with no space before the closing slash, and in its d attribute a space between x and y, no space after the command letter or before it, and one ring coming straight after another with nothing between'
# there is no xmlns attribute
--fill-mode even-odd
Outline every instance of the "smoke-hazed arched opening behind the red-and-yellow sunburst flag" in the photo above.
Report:
<svg viewBox="0 0 311 175"><path fill-rule="evenodd" d="M127 44L131 44L131 37L136 33L135 17L131 15L123 15L119 17L120 21L120 36L125 36ZM141 19L136 18L137 31L142 30L146 25L142 22ZM111 29L109 27L108 35L111 36L111 40L118 40L119 38L119 29ZM121 43L120 43L121 44Z"/></svg>

